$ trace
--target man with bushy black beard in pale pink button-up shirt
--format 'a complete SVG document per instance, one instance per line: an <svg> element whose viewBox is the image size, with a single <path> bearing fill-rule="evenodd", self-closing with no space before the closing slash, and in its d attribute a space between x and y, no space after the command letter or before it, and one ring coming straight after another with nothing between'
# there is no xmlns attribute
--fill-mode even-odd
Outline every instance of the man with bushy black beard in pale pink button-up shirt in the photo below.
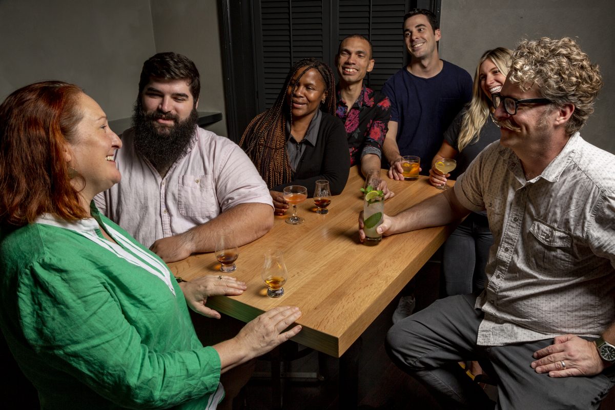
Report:
<svg viewBox="0 0 615 410"><path fill-rule="evenodd" d="M222 227L241 246L273 226L271 195L252 161L228 138L197 127L199 92L189 58L165 52L145 61L133 128L114 158L122 181L95 199L165 262L213 251Z"/></svg>

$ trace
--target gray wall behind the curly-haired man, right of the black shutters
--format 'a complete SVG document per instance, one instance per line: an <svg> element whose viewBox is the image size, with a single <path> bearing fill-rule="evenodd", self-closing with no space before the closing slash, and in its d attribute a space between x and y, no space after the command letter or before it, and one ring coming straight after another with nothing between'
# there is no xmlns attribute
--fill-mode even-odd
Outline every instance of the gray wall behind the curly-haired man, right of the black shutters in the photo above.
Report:
<svg viewBox="0 0 615 410"><path fill-rule="evenodd" d="M474 76L487 49L514 49L522 37L576 37L605 82L581 136L615 153L614 10L611 0L442 0L440 55Z"/></svg>

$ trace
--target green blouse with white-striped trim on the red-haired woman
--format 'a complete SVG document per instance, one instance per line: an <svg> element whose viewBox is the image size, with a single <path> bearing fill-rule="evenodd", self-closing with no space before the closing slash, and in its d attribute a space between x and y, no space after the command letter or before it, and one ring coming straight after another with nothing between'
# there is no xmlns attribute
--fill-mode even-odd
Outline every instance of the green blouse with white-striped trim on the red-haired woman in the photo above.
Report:
<svg viewBox="0 0 615 410"><path fill-rule="evenodd" d="M169 269L92 215L0 232L0 325L41 408L215 408L220 357L199 342Z"/></svg>

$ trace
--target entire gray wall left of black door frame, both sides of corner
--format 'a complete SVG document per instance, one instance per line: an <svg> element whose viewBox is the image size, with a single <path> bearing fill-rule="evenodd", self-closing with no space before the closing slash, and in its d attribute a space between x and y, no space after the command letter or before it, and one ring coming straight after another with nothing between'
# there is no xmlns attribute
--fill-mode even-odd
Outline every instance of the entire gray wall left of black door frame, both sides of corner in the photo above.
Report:
<svg viewBox="0 0 615 410"><path fill-rule="evenodd" d="M58 79L130 117L143 61L173 50L199 68L199 111L224 112L216 0L0 0L0 39L0 101ZM226 135L224 120L207 128Z"/></svg>

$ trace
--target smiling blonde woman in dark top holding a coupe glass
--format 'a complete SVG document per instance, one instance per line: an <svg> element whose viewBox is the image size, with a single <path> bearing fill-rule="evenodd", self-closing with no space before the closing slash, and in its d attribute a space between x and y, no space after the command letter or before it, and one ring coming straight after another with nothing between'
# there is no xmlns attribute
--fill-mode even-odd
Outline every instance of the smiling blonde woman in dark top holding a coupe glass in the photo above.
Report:
<svg viewBox="0 0 615 410"><path fill-rule="evenodd" d="M499 140L499 127L490 120L493 111L491 94L499 92L504 85L511 54L511 50L498 47L487 50L478 60L472 100L448 127L442 146L432 160L432 168L429 170L429 182L432 185L446 183L449 177L456 179L483 148ZM457 160L457 168L452 175L443 175L435 169L436 160L441 158ZM485 265L491 245L493 236L486 213L471 213L443 248L445 296L472 293L485 287Z"/></svg>

